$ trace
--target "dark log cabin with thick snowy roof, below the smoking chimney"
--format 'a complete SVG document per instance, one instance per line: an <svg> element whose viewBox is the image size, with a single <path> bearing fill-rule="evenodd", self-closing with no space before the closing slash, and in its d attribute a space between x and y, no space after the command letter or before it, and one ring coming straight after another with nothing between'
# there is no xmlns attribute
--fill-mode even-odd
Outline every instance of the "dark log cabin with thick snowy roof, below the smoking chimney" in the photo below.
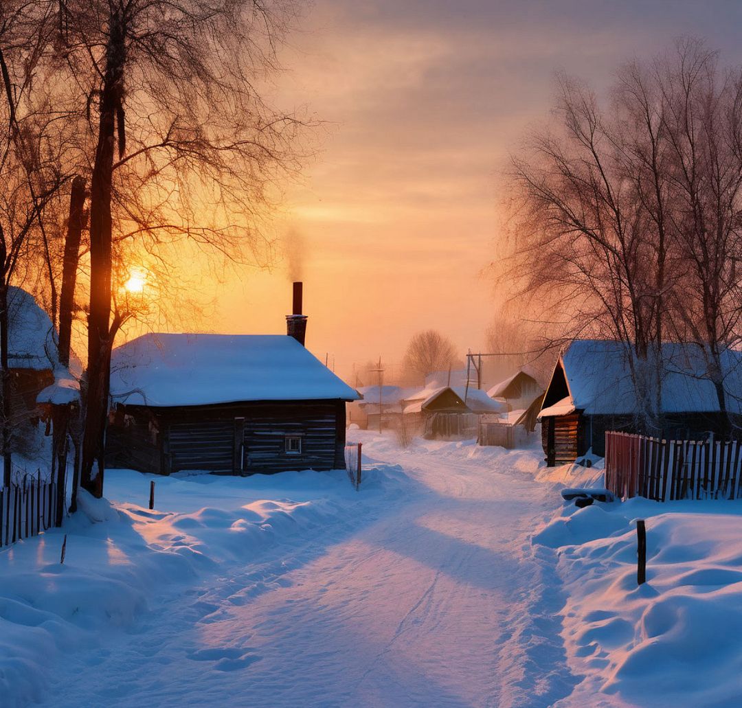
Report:
<svg viewBox="0 0 742 708"><path fill-rule="evenodd" d="M360 396L288 335L145 334L114 350L108 466L169 474L344 466Z"/></svg>

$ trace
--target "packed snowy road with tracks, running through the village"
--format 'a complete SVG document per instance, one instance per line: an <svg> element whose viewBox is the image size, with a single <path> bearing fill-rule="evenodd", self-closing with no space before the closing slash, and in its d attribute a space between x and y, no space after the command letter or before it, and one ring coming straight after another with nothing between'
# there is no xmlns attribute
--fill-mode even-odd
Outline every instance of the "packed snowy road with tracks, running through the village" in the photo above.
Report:
<svg viewBox="0 0 742 708"><path fill-rule="evenodd" d="M513 470L518 453L498 467L450 446L367 449L413 480L403 499L358 505L208 586L166 587L133 630L54 666L45 705L535 708L568 695L564 597L529 537L553 489Z"/></svg>

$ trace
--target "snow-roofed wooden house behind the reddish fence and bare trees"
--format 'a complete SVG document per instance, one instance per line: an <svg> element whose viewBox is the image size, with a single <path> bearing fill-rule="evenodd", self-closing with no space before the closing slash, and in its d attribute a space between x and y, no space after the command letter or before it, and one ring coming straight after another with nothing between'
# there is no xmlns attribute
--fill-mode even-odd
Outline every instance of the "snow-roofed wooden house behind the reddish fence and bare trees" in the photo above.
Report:
<svg viewBox="0 0 742 708"><path fill-rule="evenodd" d="M714 386L697 345L666 343L660 419L666 437L705 439L722 429ZM742 418L742 352L723 357L727 409ZM550 461L571 462L592 449L605 452L605 431L635 431L637 400L623 343L576 340L557 360L539 420ZM550 454L551 453L551 454Z"/></svg>

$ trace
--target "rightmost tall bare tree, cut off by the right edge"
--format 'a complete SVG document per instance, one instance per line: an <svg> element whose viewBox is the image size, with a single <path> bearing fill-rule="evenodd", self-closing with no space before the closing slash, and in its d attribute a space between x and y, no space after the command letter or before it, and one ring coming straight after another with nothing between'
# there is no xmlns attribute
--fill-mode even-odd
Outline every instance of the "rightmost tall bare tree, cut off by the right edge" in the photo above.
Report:
<svg viewBox="0 0 742 708"><path fill-rule="evenodd" d="M682 277L672 290L674 336L697 345L729 424L727 350L742 316L742 72L722 72L715 53L683 39L655 62L669 136L669 171ZM675 362L688 368L687 363Z"/></svg>

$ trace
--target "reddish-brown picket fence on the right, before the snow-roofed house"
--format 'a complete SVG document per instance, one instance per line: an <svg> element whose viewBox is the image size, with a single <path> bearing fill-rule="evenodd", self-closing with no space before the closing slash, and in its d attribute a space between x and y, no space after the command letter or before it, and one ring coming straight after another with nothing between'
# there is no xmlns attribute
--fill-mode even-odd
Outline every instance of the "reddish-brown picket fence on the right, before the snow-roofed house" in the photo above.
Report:
<svg viewBox="0 0 742 708"><path fill-rule="evenodd" d="M741 468L742 443L737 440L605 433L605 487L622 499L738 499Z"/></svg>

